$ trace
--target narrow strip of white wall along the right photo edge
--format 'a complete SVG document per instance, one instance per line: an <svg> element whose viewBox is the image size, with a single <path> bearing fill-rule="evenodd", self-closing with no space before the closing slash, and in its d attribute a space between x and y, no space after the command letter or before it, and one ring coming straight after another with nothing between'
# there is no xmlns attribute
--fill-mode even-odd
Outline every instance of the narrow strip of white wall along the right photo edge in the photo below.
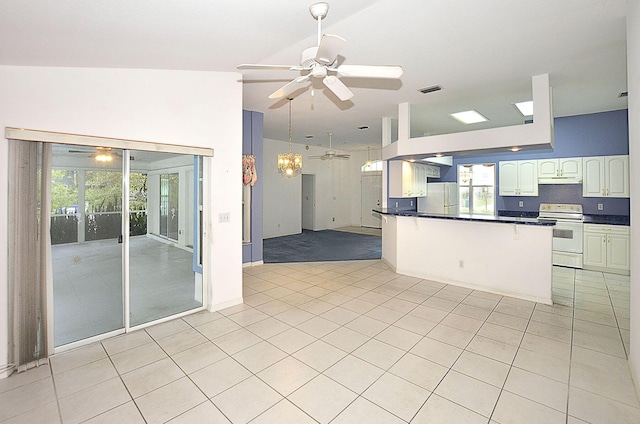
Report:
<svg viewBox="0 0 640 424"><path fill-rule="evenodd" d="M629 365L640 396L640 1L627 14L629 156L631 172L631 354Z"/></svg>

